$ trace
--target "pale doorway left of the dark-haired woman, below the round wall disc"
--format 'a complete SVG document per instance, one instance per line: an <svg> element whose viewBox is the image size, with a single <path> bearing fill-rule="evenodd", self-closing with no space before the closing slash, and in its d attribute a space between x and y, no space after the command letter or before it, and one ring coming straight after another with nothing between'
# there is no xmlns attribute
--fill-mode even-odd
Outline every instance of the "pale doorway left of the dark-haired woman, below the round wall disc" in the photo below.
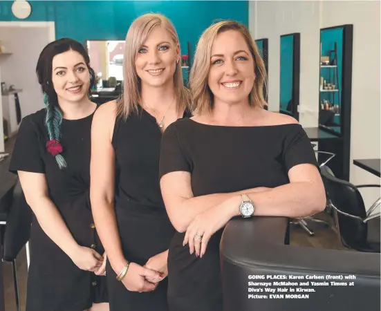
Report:
<svg viewBox="0 0 381 311"><path fill-rule="evenodd" d="M6 53L0 53L0 82L9 90L17 90L21 117L35 113L44 108L41 88L36 77L36 64L41 50L50 41L55 40L55 23L53 21L1 21L1 46ZM0 97L0 152L4 151L3 119L9 131L17 131L15 124L16 102L14 94L9 92ZM9 94L9 95L8 95ZM12 124L12 127L10 127Z"/></svg>

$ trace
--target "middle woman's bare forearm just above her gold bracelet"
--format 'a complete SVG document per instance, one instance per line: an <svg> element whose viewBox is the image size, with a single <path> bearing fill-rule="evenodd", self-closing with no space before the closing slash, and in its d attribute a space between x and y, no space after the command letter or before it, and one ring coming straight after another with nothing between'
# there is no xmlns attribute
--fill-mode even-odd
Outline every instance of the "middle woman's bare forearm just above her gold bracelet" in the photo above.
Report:
<svg viewBox="0 0 381 311"><path fill-rule="evenodd" d="M95 229L97 229L97 234L100 236L107 258L113 270L118 273L125 265L126 258L124 258L120 243L113 202L93 196L91 199L91 209L93 211Z"/></svg>

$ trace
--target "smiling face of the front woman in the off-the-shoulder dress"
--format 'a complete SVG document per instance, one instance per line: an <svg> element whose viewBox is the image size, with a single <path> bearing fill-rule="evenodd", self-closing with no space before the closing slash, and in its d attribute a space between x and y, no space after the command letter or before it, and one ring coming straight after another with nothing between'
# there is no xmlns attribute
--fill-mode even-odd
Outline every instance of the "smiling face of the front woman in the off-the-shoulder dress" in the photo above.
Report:
<svg viewBox="0 0 381 311"><path fill-rule="evenodd" d="M248 103L254 84L254 59L243 35L226 30L214 39L207 84L214 104Z"/></svg>

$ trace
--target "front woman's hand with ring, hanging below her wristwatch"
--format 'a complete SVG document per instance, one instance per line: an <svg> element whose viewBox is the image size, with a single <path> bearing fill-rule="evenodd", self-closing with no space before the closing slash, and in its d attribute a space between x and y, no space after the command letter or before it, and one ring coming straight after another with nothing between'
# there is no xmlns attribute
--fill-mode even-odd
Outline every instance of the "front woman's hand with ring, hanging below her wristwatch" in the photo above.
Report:
<svg viewBox="0 0 381 311"><path fill-rule="evenodd" d="M207 243L213 234L221 229L232 218L229 209L223 208L223 204L216 205L201 214L198 214L192 223L189 224L183 245L189 243L189 253L196 252L196 257L200 258L205 254ZM226 205L226 204L225 204ZM237 205L237 210L238 210Z"/></svg>

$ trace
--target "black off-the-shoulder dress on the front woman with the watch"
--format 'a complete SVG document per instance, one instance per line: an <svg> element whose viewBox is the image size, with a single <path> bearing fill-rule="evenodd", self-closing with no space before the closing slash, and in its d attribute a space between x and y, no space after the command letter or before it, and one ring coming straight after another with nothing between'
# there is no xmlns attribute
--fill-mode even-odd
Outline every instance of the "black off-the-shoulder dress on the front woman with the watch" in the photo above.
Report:
<svg viewBox="0 0 381 311"><path fill-rule="evenodd" d="M234 127L179 120L165 131L161 148L160 177L171 171L189 171L194 196L278 187L289 182L291 167L317 165L299 124ZM170 311L223 310L222 232L212 236L203 258L190 255L189 245L183 247L185 234L176 232L168 256Z"/></svg>

